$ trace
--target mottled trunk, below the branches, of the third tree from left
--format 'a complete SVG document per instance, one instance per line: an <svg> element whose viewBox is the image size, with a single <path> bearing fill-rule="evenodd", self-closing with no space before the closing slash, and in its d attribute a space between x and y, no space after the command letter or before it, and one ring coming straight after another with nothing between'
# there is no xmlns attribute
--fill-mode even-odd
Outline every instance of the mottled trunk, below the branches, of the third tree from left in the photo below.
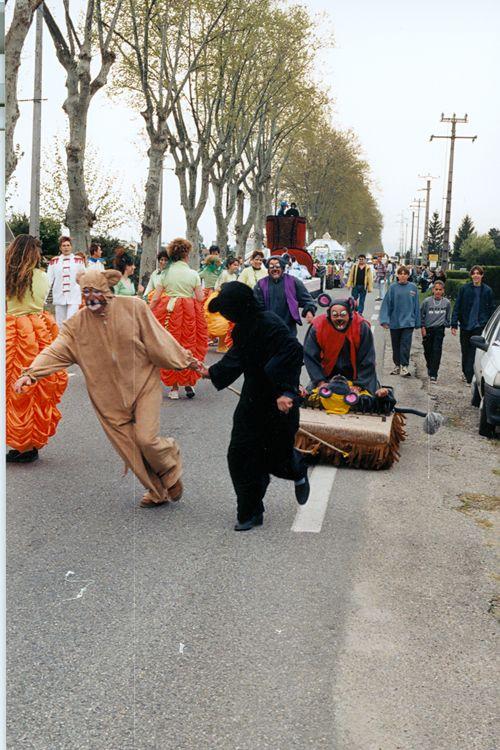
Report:
<svg viewBox="0 0 500 750"><path fill-rule="evenodd" d="M151 143L148 149L148 178L146 181L144 215L141 224L142 255L139 274L141 279L144 274L151 274L156 268L158 236L160 232L160 190L164 154L164 146L158 143Z"/></svg>

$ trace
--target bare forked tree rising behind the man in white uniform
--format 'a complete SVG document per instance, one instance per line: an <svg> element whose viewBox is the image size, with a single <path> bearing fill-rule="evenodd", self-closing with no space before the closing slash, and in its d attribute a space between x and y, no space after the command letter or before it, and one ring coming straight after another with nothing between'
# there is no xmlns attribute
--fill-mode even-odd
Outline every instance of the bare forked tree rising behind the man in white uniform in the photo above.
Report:
<svg viewBox="0 0 500 750"><path fill-rule="evenodd" d="M113 32L120 14L122 0L115 0L109 19L101 0L87 0L82 27L71 16L70 0L63 0L65 34L47 7L43 15L54 43L57 59L66 71L67 97L63 110L68 117L69 140L66 146L69 203L65 224L69 227L75 247L85 250L90 245L90 230L95 215L89 208L85 187L85 146L90 103L106 85L115 61L112 49ZM98 52L99 66L92 77L91 65Z"/></svg>

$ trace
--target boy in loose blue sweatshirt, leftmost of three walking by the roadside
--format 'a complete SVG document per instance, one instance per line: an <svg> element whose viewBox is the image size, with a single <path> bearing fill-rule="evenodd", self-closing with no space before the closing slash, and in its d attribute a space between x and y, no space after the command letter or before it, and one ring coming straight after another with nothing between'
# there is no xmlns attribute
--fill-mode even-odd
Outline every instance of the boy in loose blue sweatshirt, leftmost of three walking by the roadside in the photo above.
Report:
<svg viewBox="0 0 500 750"><path fill-rule="evenodd" d="M420 328L420 306L417 286L408 279L410 270L400 266L397 283L391 284L380 309L379 322L391 331L392 359L394 370L391 375L409 378L410 350L413 331Z"/></svg>

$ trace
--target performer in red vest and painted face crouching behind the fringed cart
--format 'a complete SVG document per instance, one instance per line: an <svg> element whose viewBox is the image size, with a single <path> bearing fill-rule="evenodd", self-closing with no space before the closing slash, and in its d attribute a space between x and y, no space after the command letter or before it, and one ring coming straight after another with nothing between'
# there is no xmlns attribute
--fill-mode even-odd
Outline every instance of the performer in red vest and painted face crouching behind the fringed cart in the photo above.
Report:
<svg viewBox="0 0 500 750"><path fill-rule="evenodd" d="M352 297L335 300L318 315L304 340L304 364L311 386L320 388L335 375L353 383L353 390L386 396L375 369L375 344L371 326L355 310Z"/></svg>

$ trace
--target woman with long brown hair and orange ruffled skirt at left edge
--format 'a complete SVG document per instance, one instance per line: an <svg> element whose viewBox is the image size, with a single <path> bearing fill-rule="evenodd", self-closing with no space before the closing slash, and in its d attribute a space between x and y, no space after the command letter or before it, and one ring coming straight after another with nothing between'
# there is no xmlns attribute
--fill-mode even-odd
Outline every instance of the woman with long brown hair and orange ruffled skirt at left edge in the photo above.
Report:
<svg viewBox="0 0 500 750"><path fill-rule="evenodd" d="M36 355L57 336L54 318L44 312L49 291L47 274L40 266L40 241L20 234L6 254L6 428L9 463L30 463L54 435L61 413L61 400L68 376L56 372L26 393L16 394L13 385Z"/></svg>

